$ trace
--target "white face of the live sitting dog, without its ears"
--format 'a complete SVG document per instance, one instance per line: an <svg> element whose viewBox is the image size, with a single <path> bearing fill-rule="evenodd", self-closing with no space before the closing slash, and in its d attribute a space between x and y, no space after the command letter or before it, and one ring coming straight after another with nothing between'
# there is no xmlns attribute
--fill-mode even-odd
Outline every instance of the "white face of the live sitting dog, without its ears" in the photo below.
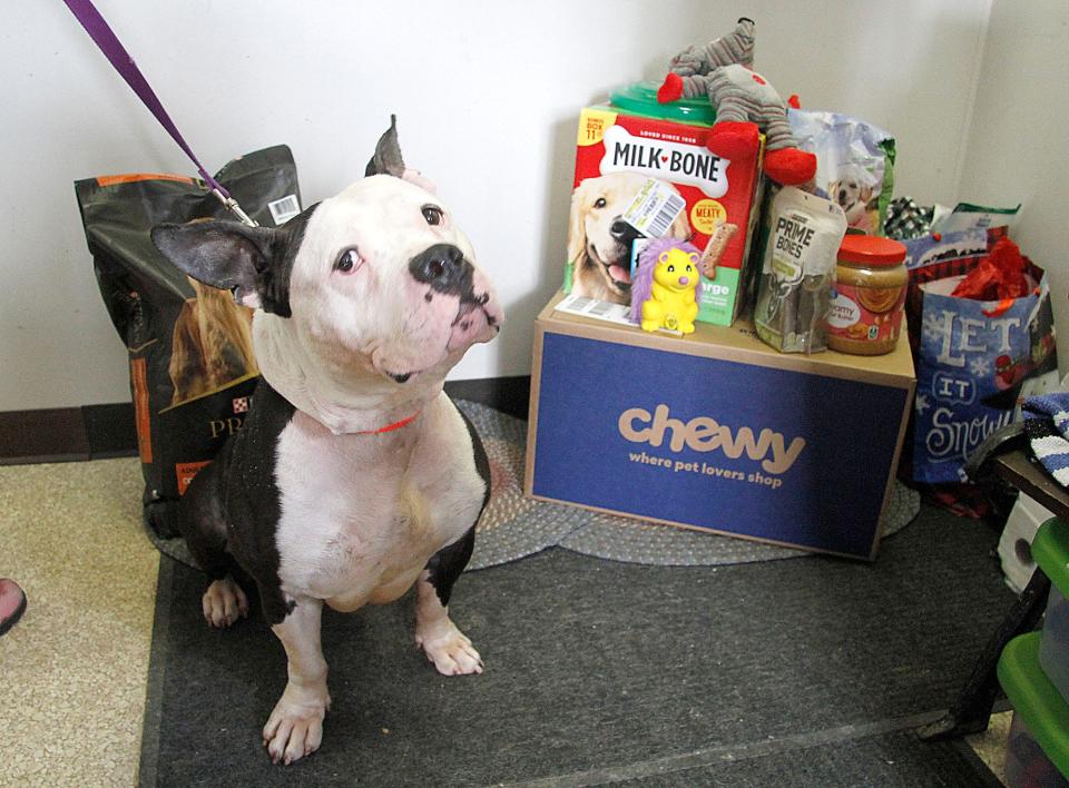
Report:
<svg viewBox="0 0 1069 788"><path fill-rule="evenodd" d="M402 383L444 373L503 319L450 211L390 175L315 208L293 260L290 305L307 344Z"/></svg>

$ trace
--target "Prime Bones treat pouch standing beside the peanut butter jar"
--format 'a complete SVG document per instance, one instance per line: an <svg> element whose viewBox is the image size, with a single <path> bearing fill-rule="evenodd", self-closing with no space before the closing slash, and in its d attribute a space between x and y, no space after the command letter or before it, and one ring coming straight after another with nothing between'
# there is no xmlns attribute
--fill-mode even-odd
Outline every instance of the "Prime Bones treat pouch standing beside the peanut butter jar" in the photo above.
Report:
<svg viewBox="0 0 1069 788"><path fill-rule="evenodd" d="M769 219L754 309L757 335L782 353L823 351L846 215L788 186L773 198Z"/></svg>

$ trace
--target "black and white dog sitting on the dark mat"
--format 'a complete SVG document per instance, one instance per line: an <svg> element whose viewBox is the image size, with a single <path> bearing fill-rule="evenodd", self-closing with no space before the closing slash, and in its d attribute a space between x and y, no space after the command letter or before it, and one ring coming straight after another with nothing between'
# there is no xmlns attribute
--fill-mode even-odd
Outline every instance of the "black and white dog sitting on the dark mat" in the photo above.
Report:
<svg viewBox="0 0 1069 788"><path fill-rule="evenodd" d="M442 386L503 316L471 244L404 168L393 122L366 176L276 229L153 230L180 269L256 309L253 408L177 516L212 578L208 622L247 613L234 580L244 573L285 647L288 682L264 727L275 762L322 740L323 603L353 611L414 584L416 644L442 673L482 671L445 605L490 495L489 463Z"/></svg>

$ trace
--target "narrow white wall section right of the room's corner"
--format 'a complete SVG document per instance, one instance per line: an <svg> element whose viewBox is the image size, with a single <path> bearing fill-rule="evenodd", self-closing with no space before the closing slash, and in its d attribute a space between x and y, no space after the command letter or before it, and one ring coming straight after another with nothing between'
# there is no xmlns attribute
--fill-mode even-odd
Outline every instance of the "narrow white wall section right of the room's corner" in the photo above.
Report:
<svg viewBox="0 0 1069 788"><path fill-rule="evenodd" d="M1069 372L1069 2L994 0L960 195L1022 203L1013 238L1050 277Z"/></svg>

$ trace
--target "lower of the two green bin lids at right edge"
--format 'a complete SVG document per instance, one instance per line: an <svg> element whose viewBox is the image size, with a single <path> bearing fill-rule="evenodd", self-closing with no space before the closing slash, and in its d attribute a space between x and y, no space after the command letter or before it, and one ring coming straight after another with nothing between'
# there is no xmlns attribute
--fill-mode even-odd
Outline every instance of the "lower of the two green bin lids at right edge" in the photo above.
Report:
<svg viewBox="0 0 1069 788"><path fill-rule="evenodd" d="M1039 666L1041 632L1013 638L999 657L999 683L1029 732L1069 777L1069 703Z"/></svg>

